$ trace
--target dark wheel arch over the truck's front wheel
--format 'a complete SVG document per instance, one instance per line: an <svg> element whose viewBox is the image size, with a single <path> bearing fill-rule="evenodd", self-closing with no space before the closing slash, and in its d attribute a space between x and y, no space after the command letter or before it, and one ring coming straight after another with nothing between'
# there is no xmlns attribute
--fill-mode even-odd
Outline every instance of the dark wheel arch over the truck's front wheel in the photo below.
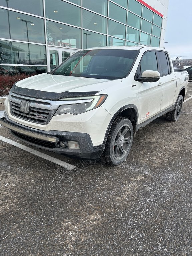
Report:
<svg viewBox="0 0 192 256"><path fill-rule="evenodd" d="M122 108L120 108L115 114L114 116L112 117L109 125L108 125L108 128L107 128L107 131L105 133L105 139L104 139L104 142L107 141L107 137L108 137L108 134L109 134L109 131L111 129L111 126L112 126L112 123L113 121L115 120L115 118L117 116L122 116L122 117L126 117L128 118L132 125L133 125L133 133L134 133L134 137L136 136L136 129L137 129L137 121L138 121L138 117L139 117L139 111L137 109L137 107L133 104L129 104L129 105L126 105Z"/></svg>

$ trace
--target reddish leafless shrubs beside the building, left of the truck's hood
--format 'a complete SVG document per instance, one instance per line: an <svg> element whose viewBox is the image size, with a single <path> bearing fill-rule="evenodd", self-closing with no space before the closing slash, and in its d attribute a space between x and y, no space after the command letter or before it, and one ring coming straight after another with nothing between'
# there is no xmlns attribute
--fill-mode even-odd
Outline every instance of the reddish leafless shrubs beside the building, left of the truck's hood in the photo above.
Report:
<svg viewBox="0 0 192 256"><path fill-rule="evenodd" d="M35 74L33 74L35 75ZM0 96L7 95L13 84L31 75L19 74L16 76L0 75Z"/></svg>

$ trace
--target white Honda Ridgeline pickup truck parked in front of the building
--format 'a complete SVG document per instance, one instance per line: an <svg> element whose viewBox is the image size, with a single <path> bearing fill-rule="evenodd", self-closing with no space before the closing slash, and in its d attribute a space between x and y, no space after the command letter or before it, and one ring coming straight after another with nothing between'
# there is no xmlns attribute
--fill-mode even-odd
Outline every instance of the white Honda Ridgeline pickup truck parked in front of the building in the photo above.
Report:
<svg viewBox="0 0 192 256"><path fill-rule="evenodd" d="M85 49L15 83L0 124L38 148L118 165L139 128L163 114L179 119L187 84L161 48Z"/></svg>

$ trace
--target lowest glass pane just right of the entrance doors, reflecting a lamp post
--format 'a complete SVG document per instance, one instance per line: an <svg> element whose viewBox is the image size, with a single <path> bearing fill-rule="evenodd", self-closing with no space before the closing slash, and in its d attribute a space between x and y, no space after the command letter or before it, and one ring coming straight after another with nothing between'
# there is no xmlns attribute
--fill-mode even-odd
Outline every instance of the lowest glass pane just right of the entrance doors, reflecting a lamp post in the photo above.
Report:
<svg viewBox="0 0 192 256"><path fill-rule="evenodd" d="M83 30L83 49L106 46L107 37L98 33Z"/></svg>

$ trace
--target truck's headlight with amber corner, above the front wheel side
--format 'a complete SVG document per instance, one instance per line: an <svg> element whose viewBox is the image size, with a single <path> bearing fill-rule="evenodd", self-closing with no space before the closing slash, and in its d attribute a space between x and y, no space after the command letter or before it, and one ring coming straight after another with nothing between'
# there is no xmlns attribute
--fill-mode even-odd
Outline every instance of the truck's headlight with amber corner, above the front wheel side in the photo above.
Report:
<svg viewBox="0 0 192 256"><path fill-rule="evenodd" d="M66 105L61 105L56 111L55 115L61 114L81 114L92 110L94 108L100 107L103 102L106 100L107 94L95 95L95 96L87 96L80 98L68 98L61 99L62 101L66 101Z"/></svg>

